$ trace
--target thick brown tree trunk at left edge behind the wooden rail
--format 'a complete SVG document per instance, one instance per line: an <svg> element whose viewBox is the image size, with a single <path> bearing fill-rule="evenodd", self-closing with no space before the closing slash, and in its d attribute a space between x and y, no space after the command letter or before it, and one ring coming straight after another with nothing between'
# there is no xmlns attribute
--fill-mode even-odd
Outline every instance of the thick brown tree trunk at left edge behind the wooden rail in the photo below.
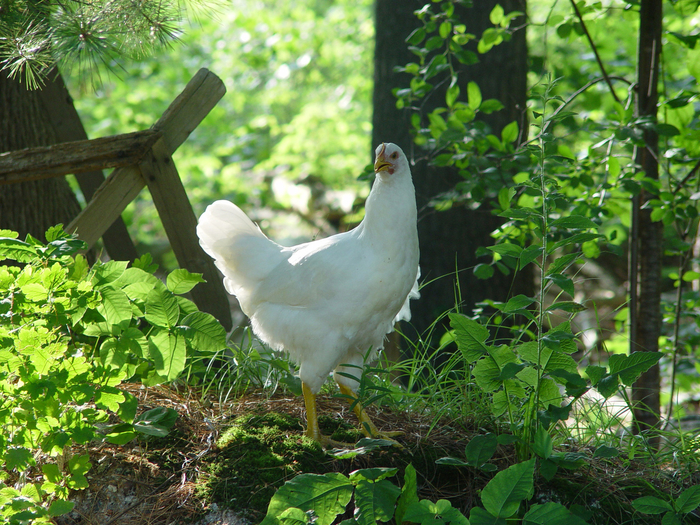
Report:
<svg viewBox="0 0 700 525"><path fill-rule="evenodd" d="M48 146L56 134L42 109L38 91L0 71L0 152ZM0 189L0 228L28 233L44 240L46 230L57 223L67 225L80 212L80 205L65 178L3 185Z"/></svg>

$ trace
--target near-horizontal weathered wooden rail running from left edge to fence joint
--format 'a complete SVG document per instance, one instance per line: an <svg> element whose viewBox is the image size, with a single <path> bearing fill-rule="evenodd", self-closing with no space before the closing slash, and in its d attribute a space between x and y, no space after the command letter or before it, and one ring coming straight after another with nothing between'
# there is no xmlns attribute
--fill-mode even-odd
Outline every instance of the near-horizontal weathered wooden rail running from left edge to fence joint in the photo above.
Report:
<svg viewBox="0 0 700 525"><path fill-rule="evenodd" d="M161 136L148 129L0 154L0 184L138 164Z"/></svg>

